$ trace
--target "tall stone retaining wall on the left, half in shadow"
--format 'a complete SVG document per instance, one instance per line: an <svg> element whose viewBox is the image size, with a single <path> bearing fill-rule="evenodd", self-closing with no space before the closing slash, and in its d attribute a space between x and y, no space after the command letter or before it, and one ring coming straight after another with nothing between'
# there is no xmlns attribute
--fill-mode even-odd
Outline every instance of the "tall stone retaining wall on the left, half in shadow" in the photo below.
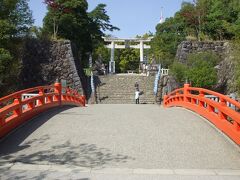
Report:
<svg viewBox="0 0 240 180"><path fill-rule="evenodd" d="M82 68L75 65L75 61L79 59L74 59L70 41L49 42L31 39L26 42L23 54L23 88L52 84L57 79L64 79L67 80L67 86L83 93L78 72Z"/></svg>

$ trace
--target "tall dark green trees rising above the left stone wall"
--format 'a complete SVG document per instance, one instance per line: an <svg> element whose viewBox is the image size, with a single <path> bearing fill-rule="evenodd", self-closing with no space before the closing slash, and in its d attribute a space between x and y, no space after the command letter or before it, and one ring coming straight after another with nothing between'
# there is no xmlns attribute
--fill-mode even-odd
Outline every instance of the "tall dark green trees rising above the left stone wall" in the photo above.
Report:
<svg viewBox="0 0 240 180"><path fill-rule="evenodd" d="M74 42L82 55L84 66L88 64L86 56L89 52L100 56L98 46L102 46L103 31L118 30L110 24L105 4L99 4L93 11L87 12L86 0L45 0L45 3L48 13L44 18L43 32ZM100 54L96 54L98 52Z"/></svg>

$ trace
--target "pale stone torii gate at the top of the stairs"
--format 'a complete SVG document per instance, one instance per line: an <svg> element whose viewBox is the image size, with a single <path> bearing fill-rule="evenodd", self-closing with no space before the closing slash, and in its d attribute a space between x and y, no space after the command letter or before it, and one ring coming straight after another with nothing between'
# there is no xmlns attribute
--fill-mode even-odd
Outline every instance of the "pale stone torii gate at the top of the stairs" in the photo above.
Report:
<svg viewBox="0 0 240 180"><path fill-rule="evenodd" d="M144 44L145 42L151 42L153 37L149 38L111 38L103 37L105 42L110 42L111 44L106 45L107 48L111 49L111 59L109 62L109 73L115 73L115 60L114 60L114 50L115 49L125 49L133 48L140 49L140 63L144 61L144 49L150 49L151 46ZM117 43L124 42L124 45L119 45ZM130 45L130 43L138 43L137 45Z"/></svg>

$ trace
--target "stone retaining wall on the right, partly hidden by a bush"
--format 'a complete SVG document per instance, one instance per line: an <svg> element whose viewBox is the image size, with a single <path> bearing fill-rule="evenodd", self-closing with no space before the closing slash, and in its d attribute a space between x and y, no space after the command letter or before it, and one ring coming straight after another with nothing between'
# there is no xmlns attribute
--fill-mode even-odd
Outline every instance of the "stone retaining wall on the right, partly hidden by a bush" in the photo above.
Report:
<svg viewBox="0 0 240 180"><path fill-rule="evenodd" d="M186 63L187 56L191 53L212 51L220 58L220 63L216 66L218 82L214 87L215 91L223 94L235 93L234 86L235 68L232 61L231 45L227 41L214 42L197 42L183 41L179 46L176 54L178 62Z"/></svg>

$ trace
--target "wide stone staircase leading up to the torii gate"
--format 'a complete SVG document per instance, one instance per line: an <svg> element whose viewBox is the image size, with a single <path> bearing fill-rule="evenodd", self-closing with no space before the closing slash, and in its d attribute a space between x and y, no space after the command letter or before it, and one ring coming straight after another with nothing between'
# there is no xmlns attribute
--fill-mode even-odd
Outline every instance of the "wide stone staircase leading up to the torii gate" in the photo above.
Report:
<svg viewBox="0 0 240 180"><path fill-rule="evenodd" d="M140 104L154 104L153 93L154 76L142 76L137 74L116 74L99 76L97 80L97 103L99 104L134 104L135 87L138 82Z"/></svg>

